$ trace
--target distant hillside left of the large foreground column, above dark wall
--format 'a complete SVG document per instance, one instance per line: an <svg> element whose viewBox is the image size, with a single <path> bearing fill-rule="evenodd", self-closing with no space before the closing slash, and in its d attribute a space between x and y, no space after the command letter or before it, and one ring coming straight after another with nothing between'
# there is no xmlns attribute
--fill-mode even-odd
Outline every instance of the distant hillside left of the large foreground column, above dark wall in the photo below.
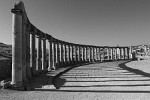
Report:
<svg viewBox="0 0 150 100"><path fill-rule="evenodd" d="M0 56L11 58L12 57L12 45L4 44L0 42Z"/></svg>

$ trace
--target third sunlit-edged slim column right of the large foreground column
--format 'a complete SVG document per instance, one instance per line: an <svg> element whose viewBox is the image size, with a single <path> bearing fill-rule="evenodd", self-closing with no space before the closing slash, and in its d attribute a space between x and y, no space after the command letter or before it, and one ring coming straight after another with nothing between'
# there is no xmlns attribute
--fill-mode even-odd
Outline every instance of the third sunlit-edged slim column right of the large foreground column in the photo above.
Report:
<svg viewBox="0 0 150 100"><path fill-rule="evenodd" d="M42 70L46 71L46 34L43 38Z"/></svg>

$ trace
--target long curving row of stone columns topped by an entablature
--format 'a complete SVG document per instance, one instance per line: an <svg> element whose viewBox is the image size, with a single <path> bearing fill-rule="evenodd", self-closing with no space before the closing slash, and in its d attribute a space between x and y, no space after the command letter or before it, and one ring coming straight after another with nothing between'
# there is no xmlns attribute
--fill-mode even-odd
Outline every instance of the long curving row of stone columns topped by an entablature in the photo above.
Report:
<svg viewBox="0 0 150 100"><path fill-rule="evenodd" d="M106 47L65 42L40 31L30 23L23 2L13 13L12 82L24 82L41 72L77 64L130 59L129 47Z"/></svg>

